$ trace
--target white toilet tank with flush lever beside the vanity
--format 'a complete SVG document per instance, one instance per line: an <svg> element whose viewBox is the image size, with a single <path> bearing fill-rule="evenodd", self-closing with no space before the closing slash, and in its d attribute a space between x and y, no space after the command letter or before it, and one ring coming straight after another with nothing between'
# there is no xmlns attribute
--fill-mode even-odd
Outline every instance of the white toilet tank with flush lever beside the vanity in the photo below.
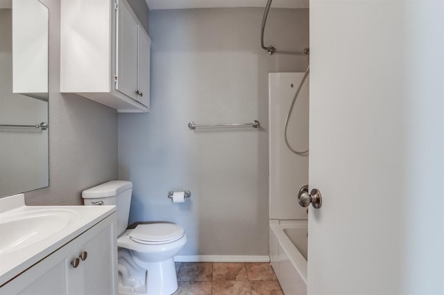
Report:
<svg viewBox="0 0 444 295"><path fill-rule="evenodd" d="M131 193L133 183L124 180L113 180L83 190L84 205L115 205L117 208L117 235L123 233L128 226L130 215Z"/></svg>

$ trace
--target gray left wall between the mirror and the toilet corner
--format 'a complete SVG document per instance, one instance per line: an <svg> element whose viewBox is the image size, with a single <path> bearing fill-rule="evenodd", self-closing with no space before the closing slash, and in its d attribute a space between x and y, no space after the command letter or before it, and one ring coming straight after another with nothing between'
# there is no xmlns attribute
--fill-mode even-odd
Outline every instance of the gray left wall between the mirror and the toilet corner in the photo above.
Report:
<svg viewBox="0 0 444 295"><path fill-rule="evenodd" d="M49 8L49 187L28 205L80 205L80 193L117 178L117 111L60 89L60 1Z"/></svg>

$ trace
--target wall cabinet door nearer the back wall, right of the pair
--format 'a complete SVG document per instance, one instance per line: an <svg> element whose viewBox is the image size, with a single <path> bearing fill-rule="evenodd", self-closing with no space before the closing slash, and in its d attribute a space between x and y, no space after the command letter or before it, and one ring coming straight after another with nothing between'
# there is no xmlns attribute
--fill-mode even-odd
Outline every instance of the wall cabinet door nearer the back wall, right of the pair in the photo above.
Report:
<svg viewBox="0 0 444 295"><path fill-rule="evenodd" d="M137 89L139 102L150 107L150 55L151 41L142 28L139 28Z"/></svg>

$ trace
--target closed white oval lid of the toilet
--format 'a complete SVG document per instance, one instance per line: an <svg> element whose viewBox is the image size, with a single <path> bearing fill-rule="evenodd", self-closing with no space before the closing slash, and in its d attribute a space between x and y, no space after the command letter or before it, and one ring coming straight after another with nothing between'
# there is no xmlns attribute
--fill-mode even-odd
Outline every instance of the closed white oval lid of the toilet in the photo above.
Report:
<svg viewBox="0 0 444 295"><path fill-rule="evenodd" d="M135 242L165 243L178 240L185 235L182 226L173 223L139 224L130 233L131 240Z"/></svg>

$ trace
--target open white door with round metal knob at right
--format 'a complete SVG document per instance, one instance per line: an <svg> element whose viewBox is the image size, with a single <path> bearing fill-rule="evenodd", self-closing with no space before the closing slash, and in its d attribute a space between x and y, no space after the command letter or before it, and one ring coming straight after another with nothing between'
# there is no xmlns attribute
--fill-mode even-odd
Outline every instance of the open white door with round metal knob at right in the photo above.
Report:
<svg viewBox="0 0 444 295"><path fill-rule="evenodd" d="M309 294L444 294L443 15L310 1Z"/></svg>

